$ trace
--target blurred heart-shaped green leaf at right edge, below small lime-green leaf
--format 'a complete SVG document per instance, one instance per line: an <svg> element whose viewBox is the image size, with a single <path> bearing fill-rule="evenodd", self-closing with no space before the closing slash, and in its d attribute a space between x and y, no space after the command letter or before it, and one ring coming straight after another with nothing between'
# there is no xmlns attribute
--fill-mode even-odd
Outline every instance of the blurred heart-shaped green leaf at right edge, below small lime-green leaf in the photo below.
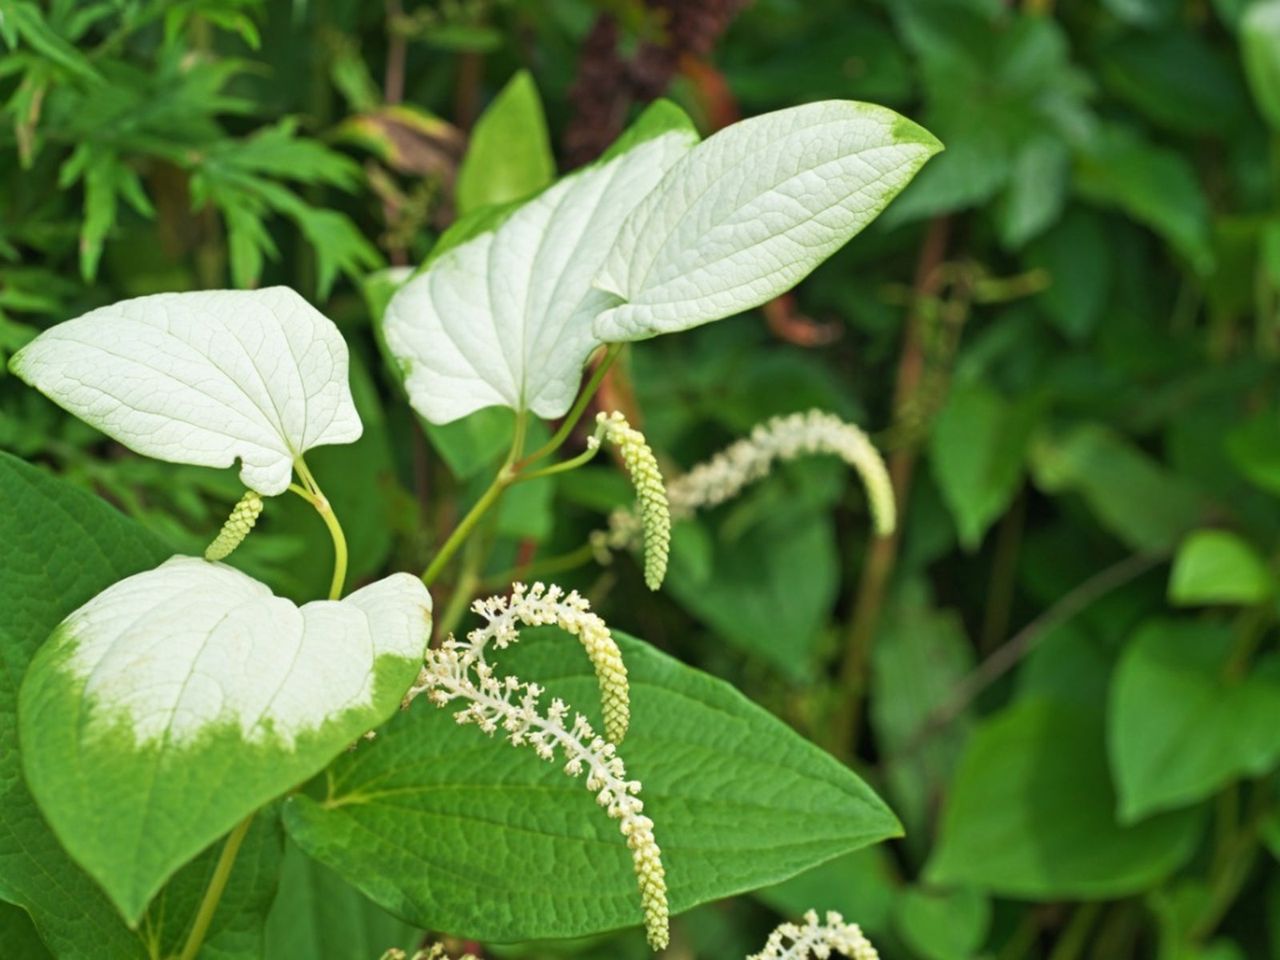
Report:
<svg viewBox="0 0 1280 960"><path fill-rule="evenodd" d="M1188 806L1280 760L1280 655L1234 676L1233 631L1155 621L1125 648L1111 680L1108 745L1120 815Z"/></svg>

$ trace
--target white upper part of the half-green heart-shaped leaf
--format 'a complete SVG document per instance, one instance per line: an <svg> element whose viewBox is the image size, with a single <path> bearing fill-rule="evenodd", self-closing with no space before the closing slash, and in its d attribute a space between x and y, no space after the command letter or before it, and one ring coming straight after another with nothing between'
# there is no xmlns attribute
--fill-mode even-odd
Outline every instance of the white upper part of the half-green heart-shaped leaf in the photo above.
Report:
<svg viewBox="0 0 1280 960"><path fill-rule="evenodd" d="M108 588L63 630L91 712L127 719L140 746L233 723L247 742L291 748L372 705L379 658L421 660L430 618L430 594L408 573L296 607L233 567L173 557Z"/></svg>

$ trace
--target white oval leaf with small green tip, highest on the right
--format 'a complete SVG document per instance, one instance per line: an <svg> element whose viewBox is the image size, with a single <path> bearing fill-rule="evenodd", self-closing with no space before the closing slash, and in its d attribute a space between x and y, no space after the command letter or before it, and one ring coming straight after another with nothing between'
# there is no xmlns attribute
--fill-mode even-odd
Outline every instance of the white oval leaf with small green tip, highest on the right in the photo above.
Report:
<svg viewBox="0 0 1280 960"><path fill-rule="evenodd" d="M809 275L942 145L882 106L827 100L727 127L627 218L596 285L602 340L732 316Z"/></svg>

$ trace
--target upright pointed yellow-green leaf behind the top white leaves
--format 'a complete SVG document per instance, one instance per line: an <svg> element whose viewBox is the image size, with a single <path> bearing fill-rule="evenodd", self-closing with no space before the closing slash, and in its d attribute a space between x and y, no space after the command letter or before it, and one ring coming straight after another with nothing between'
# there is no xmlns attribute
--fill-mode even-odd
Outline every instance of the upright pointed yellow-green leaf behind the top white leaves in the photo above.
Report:
<svg viewBox="0 0 1280 960"><path fill-rule="evenodd" d="M547 118L529 70L520 70L471 131L458 168L458 214L522 200L556 178Z"/></svg>

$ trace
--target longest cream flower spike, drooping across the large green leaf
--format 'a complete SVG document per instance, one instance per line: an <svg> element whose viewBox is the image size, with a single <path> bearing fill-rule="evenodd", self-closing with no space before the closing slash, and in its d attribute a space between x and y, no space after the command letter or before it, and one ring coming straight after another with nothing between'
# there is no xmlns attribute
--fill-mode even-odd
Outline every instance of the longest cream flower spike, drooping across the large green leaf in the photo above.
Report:
<svg viewBox="0 0 1280 960"><path fill-rule="evenodd" d="M544 760L561 756L571 777L585 772L588 790L595 794L596 803L609 817L618 820L618 829L626 837L640 886L649 945L662 950L669 942L667 879L653 820L644 815L640 782L627 778L617 746L596 736L586 717L573 713L570 721L570 707L558 698L543 713L540 686L517 677L498 677L484 659L488 640L494 640L500 649L515 639L513 630L503 632L494 625L509 625L507 618L515 616L512 611L530 603L536 602L524 595L513 598L511 604L502 598L477 603L481 616L493 614L489 626L471 631L466 641L451 636L439 649L428 650L406 705L421 694L436 707L461 701L462 709L453 714L458 723L474 723L490 736L502 730L512 744L531 746Z"/></svg>

